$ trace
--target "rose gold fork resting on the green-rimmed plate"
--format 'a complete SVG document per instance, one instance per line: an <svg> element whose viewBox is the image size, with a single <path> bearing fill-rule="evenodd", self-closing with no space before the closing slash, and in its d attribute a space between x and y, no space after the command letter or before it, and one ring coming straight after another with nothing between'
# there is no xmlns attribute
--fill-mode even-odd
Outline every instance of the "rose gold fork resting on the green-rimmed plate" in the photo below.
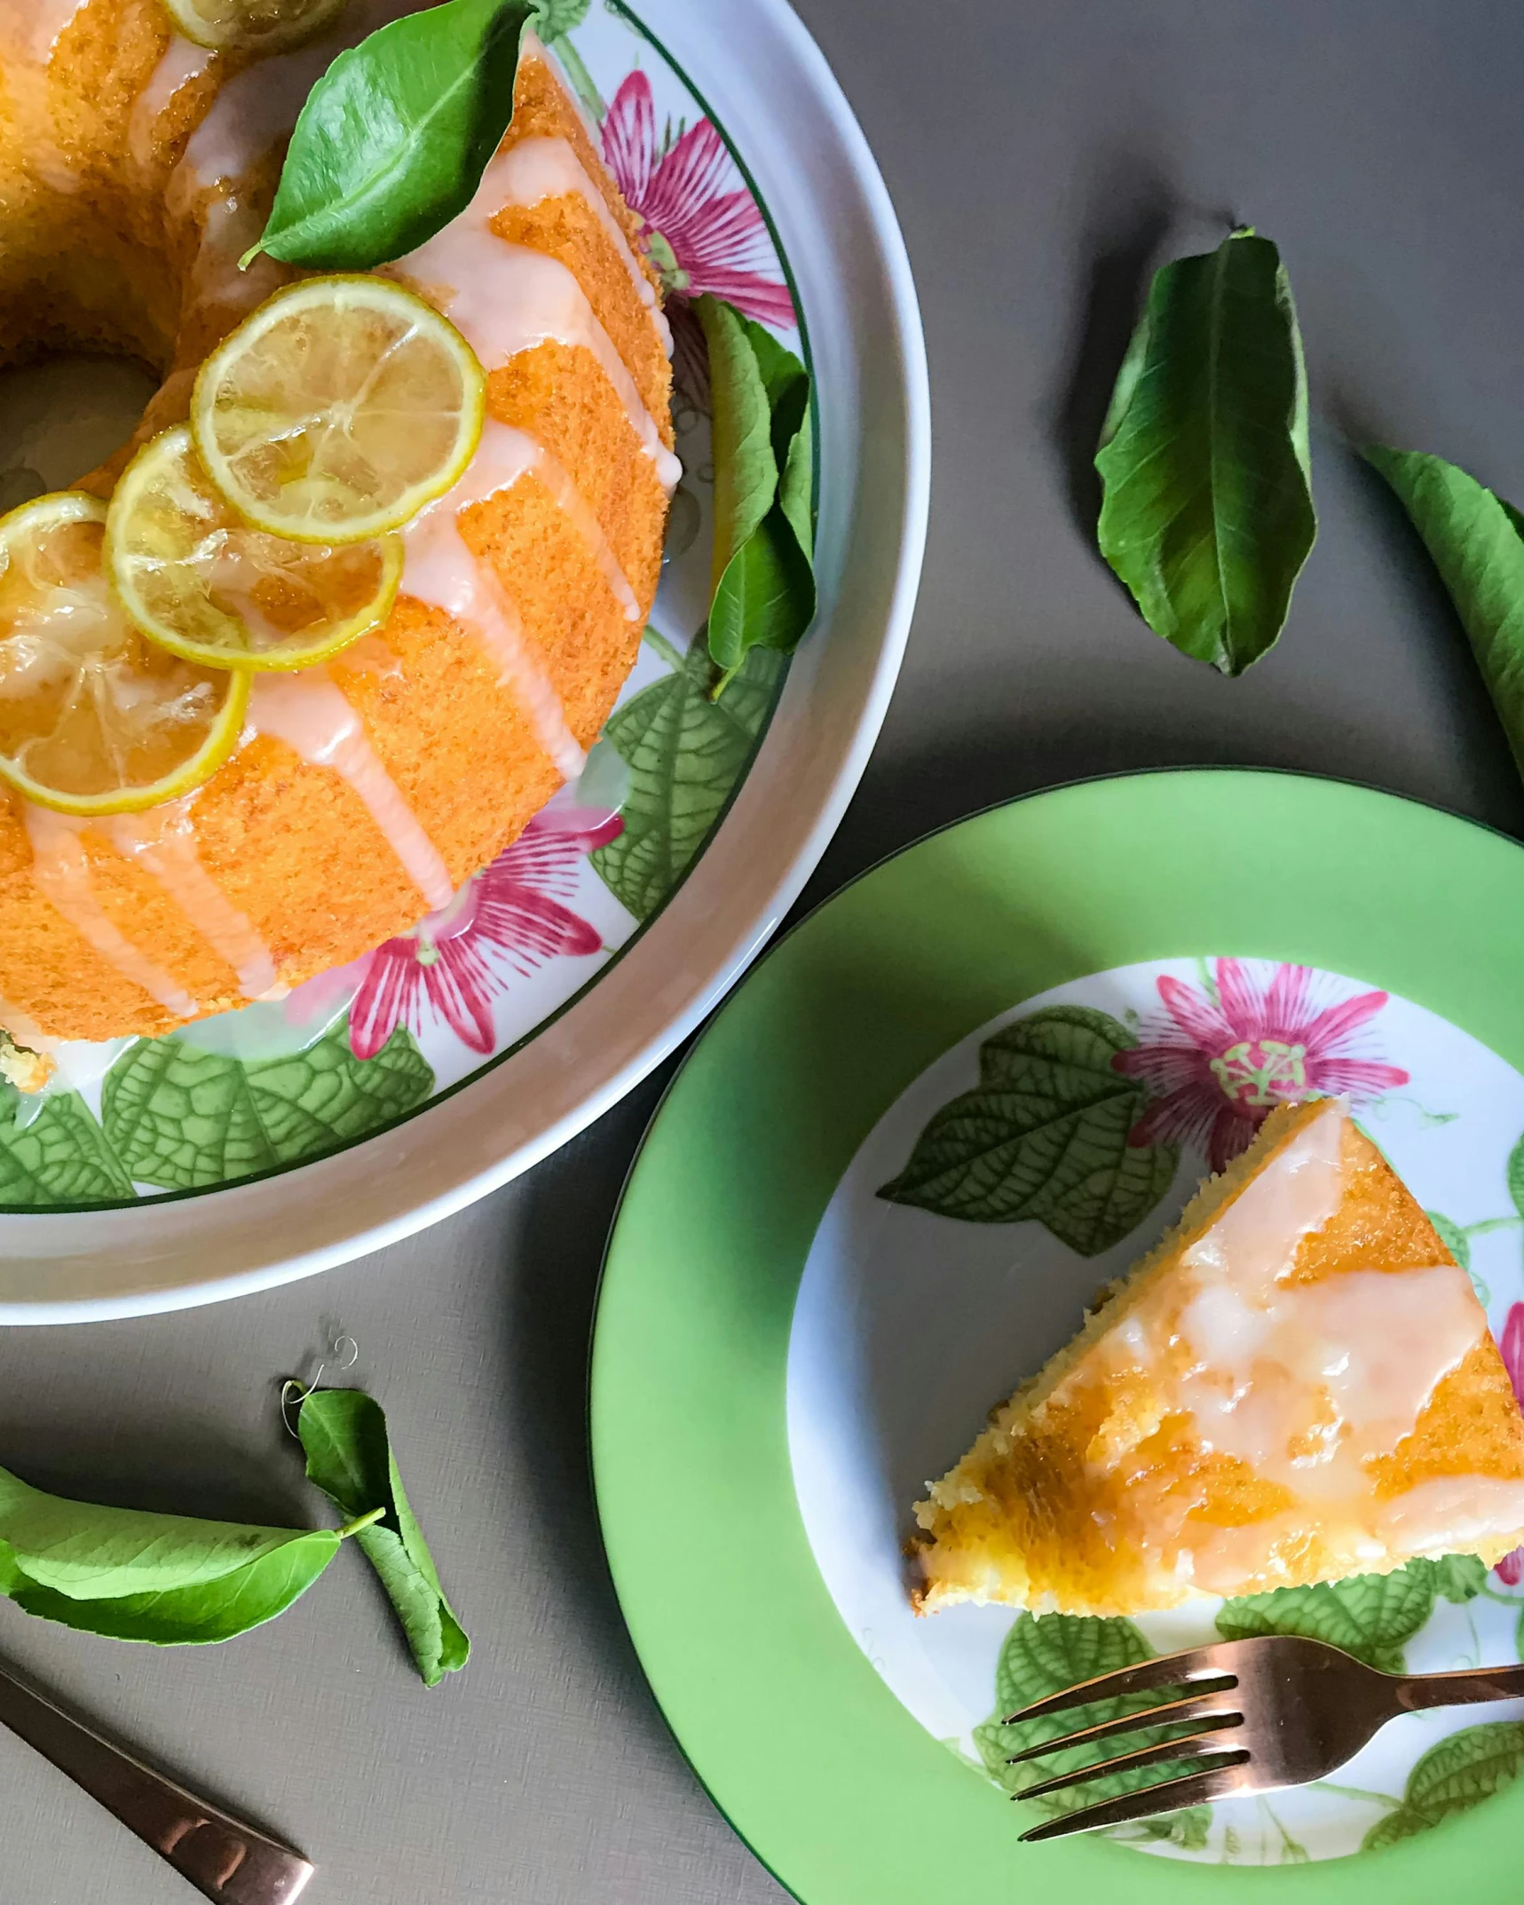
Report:
<svg viewBox="0 0 1524 1905"><path fill-rule="evenodd" d="M1101 1699L1124 1694L1158 1690L1156 1707L1143 1713L1118 1714L1080 1726L1057 1739L1013 1753L1006 1764L1038 1760L1048 1753L1090 1747L1101 1739L1135 1734L1139 1728L1179 1728L1172 1739L1162 1739L1132 1753L1118 1753L1076 1772L1038 1779L1036 1785L1013 1793L1013 1798L1040 1798L1065 1787L1082 1787L1109 1774L1126 1774L1139 1766L1200 1762L1187 1774L1160 1779L1156 1785L1124 1793L1063 1814L1046 1825L1034 1825L1023 1838L1065 1838L1069 1833L1093 1833L1103 1825L1124 1825L1128 1819L1151 1819L1179 1806L1202 1806L1213 1798L1236 1798L1246 1793L1274 1793L1288 1785L1324 1779L1400 1713L1421 1713L1425 1707L1459 1707L1482 1699L1524 1697L1524 1665L1474 1667L1463 1673L1377 1673L1343 1648L1324 1640L1303 1640L1299 1634L1263 1634L1255 1640L1221 1640L1210 1648L1187 1648L1183 1654L1162 1654L1082 1680L1063 1694L1036 1699L1021 1713L1010 1714L1006 1726L1036 1720L1069 1707L1090 1707Z"/></svg>

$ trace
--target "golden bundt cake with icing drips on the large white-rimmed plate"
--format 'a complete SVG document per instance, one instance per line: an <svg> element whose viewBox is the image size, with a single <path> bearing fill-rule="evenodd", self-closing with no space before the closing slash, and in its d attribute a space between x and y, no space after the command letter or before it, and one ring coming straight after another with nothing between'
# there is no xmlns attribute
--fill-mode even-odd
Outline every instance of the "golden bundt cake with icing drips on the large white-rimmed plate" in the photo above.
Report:
<svg viewBox="0 0 1524 1905"><path fill-rule="evenodd" d="M160 0L0 10L0 362L162 368L109 497L187 417L196 368L297 274L238 259L333 55L417 8L351 0L265 59L179 38ZM579 772L629 674L678 474L671 337L638 225L526 32L514 116L461 217L387 267L461 330L488 421L402 533L389 619L253 678L232 756L109 821L0 789L0 1027L13 1046L162 1034L404 932ZM6 1042L0 1038L0 1048ZM11 1076L27 1067L11 1053Z"/></svg>

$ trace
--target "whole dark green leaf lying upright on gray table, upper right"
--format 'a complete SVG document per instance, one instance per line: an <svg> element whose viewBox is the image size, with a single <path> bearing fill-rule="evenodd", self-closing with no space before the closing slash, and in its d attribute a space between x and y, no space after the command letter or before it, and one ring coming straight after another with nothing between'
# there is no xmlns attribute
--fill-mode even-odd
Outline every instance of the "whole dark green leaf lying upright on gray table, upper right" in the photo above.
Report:
<svg viewBox="0 0 1524 1905"><path fill-rule="evenodd" d="M1143 619L1242 674L1274 646L1316 535L1301 335L1269 238L1154 274L1095 469L1101 554Z"/></svg>

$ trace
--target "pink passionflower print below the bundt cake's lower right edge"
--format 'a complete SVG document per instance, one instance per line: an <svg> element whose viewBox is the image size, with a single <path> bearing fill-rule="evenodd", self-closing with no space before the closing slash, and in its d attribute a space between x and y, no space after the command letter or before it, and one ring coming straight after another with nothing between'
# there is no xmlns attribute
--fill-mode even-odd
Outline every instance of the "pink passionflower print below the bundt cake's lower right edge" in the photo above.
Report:
<svg viewBox="0 0 1524 1905"><path fill-rule="evenodd" d="M528 973L556 954L602 952L602 933L566 899L583 853L608 846L621 827L617 813L591 808L537 813L448 907L345 968L351 983L362 972L349 1008L354 1057L373 1059L398 1025L419 1033L434 1015L472 1052L490 1053L491 1002L509 973Z"/></svg>

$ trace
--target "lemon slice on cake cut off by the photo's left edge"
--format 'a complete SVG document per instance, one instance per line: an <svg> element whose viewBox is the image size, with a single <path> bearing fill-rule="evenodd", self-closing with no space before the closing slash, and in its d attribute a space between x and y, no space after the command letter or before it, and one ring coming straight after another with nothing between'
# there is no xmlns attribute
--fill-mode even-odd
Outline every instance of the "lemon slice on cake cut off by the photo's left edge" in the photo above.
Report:
<svg viewBox="0 0 1524 1905"><path fill-rule="evenodd" d="M238 743L246 671L145 640L107 585L107 507L63 490L0 516L0 779L59 813L190 792Z"/></svg>

